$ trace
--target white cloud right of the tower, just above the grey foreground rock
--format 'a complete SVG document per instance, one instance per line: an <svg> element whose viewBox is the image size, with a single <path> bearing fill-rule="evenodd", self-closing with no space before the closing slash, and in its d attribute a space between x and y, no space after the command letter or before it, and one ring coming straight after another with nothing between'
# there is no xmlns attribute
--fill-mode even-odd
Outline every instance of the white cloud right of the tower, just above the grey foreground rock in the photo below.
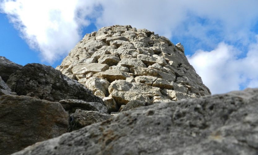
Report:
<svg viewBox="0 0 258 155"><path fill-rule="evenodd" d="M239 59L239 54L236 47L222 42L212 51L196 51L188 60L212 94L257 87L258 42L250 45L245 57Z"/></svg>

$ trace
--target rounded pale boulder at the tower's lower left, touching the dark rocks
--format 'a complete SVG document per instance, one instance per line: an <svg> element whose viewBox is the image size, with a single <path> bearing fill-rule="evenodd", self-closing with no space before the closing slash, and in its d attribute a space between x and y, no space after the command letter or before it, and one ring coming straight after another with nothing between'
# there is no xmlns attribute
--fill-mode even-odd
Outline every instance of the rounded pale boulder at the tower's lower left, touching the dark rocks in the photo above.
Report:
<svg viewBox="0 0 258 155"><path fill-rule="evenodd" d="M100 90L105 95L108 95L109 85L110 85L110 83L107 80L102 79L102 78L97 78L97 77L91 77L85 83L85 86L88 89L90 89L91 91L96 92L97 90Z"/></svg>

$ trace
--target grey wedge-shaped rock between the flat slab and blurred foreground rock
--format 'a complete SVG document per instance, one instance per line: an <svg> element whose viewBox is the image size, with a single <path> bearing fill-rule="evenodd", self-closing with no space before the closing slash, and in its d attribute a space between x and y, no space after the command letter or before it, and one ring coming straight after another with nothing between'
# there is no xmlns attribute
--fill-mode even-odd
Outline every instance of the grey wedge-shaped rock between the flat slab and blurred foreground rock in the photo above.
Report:
<svg viewBox="0 0 258 155"><path fill-rule="evenodd" d="M73 130L78 130L84 126L88 126L97 122L102 122L109 119L112 115L100 113L98 111L84 111L77 109L72 115Z"/></svg>

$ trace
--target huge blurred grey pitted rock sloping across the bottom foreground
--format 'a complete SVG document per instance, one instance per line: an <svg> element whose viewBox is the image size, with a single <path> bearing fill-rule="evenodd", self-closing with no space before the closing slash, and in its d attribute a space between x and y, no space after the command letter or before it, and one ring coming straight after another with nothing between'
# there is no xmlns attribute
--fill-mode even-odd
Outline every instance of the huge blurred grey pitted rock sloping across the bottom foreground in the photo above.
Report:
<svg viewBox="0 0 258 155"><path fill-rule="evenodd" d="M119 113L15 153L258 153L258 89L154 104Z"/></svg>

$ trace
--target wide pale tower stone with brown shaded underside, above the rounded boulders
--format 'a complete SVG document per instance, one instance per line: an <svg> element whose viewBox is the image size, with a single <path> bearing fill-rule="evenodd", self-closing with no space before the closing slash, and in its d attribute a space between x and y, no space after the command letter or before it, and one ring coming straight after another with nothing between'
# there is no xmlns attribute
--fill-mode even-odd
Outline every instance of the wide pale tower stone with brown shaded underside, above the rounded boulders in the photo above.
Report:
<svg viewBox="0 0 258 155"><path fill-rule="evenodd" d="M99 72L93 76L97 78L105 78L109 82L113 82L115 80L125 80L126 78L132 77L129 73L118 69L108 69L105 72Z"/></svg>

